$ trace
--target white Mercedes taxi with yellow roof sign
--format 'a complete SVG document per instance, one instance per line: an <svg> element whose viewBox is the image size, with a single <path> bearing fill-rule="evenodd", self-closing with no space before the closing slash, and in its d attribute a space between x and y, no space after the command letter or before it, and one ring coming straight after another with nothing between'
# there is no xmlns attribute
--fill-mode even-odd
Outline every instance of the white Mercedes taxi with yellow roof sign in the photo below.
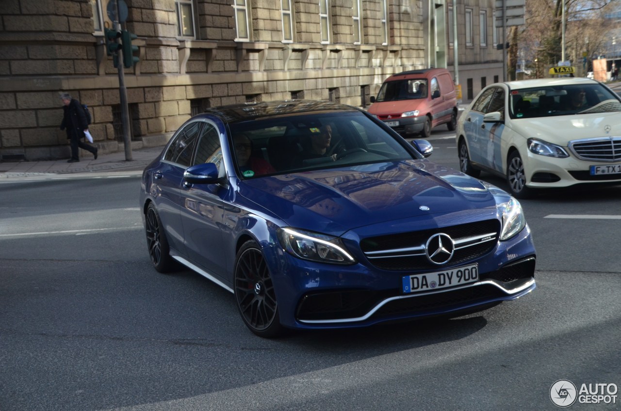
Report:
<svg viewBox="0 0 621 411"><path fill-rule="evenodd" d="M510 192L621 184L621 98L587 78L494 83L457 124L460 168L504 176Z"/></svg>

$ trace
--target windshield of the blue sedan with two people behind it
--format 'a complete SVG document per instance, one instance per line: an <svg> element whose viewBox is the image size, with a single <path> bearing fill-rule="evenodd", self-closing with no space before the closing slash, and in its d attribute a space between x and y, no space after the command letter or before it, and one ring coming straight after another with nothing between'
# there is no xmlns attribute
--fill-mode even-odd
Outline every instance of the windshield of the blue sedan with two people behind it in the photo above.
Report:
<svg viewBox="0 0 621 411"><path fill-rule="evenodd" d="M286 115L229 128L233 162L245 178L416 158L405 140L361 112Z"/></svg>

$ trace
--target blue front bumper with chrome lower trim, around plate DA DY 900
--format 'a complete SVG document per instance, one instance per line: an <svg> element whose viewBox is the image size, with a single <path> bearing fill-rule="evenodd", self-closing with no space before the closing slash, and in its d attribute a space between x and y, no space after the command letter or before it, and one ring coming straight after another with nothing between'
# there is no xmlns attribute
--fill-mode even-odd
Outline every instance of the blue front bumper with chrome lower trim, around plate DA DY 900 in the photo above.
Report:
<svg viewBox="0 0 621 411"><path fill-rule="evenodd" d="M402 277L412 274L410 271L381 270L362 263L338 267L276 251L278 260L284 262L271 269L279 316L281 323L291 328L366 327L466 314L535 289L535 248L528 227L512 240L497 243L490 253L469 261L479 264L478 282L413 294L402 292Z"/></svg>

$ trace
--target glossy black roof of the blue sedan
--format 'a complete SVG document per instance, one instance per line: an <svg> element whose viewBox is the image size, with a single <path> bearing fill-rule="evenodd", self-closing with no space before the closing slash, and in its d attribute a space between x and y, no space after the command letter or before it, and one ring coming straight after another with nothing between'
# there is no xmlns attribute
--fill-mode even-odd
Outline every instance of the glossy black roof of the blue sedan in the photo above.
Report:
<svg viewBox="0 0 621 411"><path fill-rule="evenodd" d="M217 115L221 119L232 123L247 120L256 120L261 117L276 117L289 114L310 114L329 111L358 111L355 107L347 106L330 101L314 100L283 100L283 101L261 101L243 104L232 104L230 106L212 107L207 109L204 114ZM200 117L204 114L197 114Z"/></svg>

